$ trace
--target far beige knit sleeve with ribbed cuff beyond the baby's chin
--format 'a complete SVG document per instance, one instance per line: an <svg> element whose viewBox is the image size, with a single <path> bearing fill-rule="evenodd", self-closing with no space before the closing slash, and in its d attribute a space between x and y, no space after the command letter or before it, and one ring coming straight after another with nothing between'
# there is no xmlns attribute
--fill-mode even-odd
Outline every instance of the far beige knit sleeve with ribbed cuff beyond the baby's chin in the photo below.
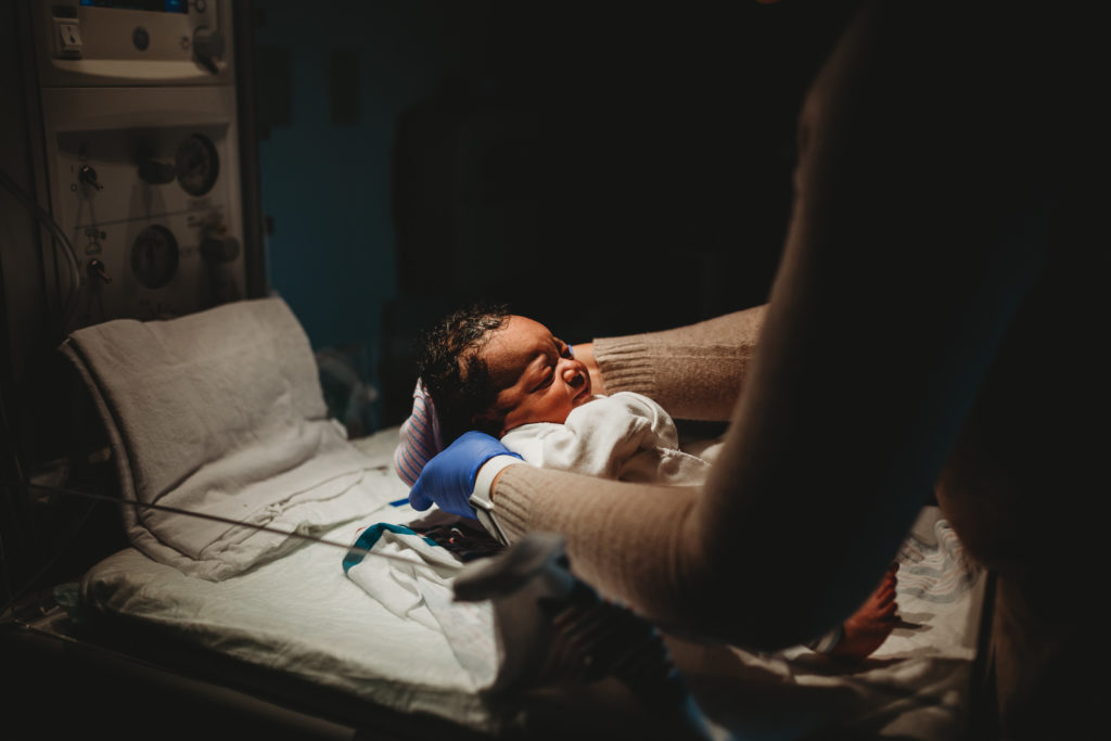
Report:
<svg viewBox="0 0 1111 741"><path fill-rule="evenodd" d="M607 392L642 393L681 419L728 420L767 309L764 304L688 327L594 340Z"/></svg>

